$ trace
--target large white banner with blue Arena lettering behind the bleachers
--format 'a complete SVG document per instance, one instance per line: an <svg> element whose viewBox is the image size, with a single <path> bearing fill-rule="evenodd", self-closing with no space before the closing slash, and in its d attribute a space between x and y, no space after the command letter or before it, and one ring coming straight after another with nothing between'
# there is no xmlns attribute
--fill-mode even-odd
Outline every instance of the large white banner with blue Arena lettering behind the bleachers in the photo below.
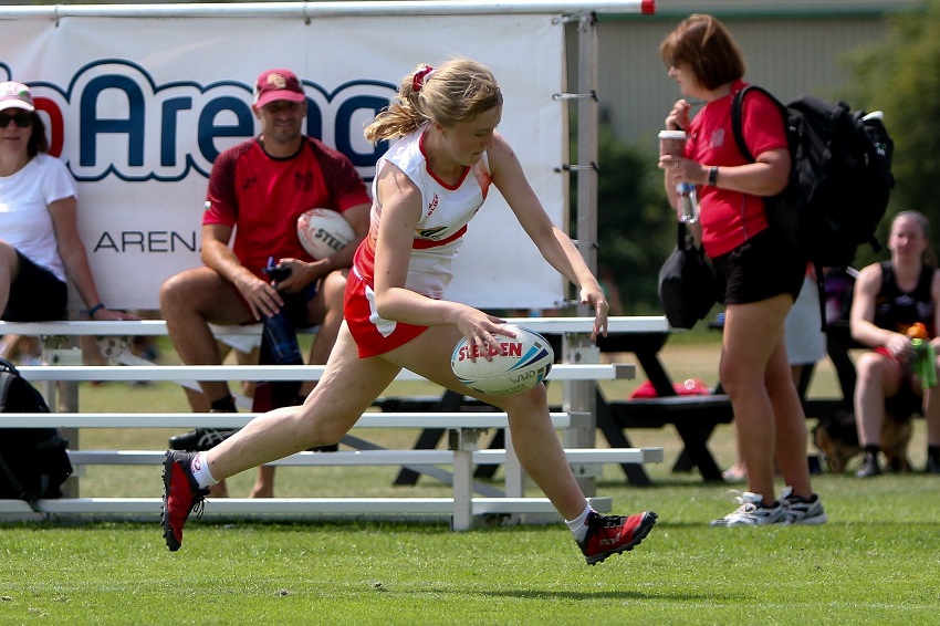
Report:
<svg viewBox="0 0 940 626"><path fill-rule="evenodd" d="M453 56L493 70L500 132L567 231L564 32L553 15L66 17L0 20L0 80L33 88L51 152L79 185L80 228L102 299L158 309L164 280L197 267L212 161L259 132L258 74L289 67L310 101L306 132L370 182L384 146L363 127L418 63ZM2 237L2 233L0 233ZM468 271L472 270L472 271ZM551 307L564 281L499 194L471 222L448 296L480 307Z"/></svg>

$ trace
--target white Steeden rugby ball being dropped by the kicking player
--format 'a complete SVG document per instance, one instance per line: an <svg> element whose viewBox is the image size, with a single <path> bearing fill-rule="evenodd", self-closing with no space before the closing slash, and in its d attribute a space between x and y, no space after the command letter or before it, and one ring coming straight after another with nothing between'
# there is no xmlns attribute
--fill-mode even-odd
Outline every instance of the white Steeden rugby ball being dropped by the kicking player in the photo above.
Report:
<svg viewBox="0 0 940 626"><path fill-rule="evenodd" d="M497 335L499 349L489 346L491 361L487 361L479 346L470 345L467 337L457 342L450 368L461 383L491 396L508 396L531 389L545 379L555 362L549 341L529 328L506 328L516 336Z"/></svg>

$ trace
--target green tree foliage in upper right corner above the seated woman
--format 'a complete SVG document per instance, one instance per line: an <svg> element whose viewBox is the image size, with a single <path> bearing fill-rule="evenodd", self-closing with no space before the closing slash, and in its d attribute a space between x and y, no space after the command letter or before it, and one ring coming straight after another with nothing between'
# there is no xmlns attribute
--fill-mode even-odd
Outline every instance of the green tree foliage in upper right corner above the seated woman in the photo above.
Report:
<svg viewBox="0 0 940 626"><path fill-rule="evenodd" d="M940 204L933 202L933 185L940 176L940 0L889 21L887 38L853 51L846 58L853 80L846 100L854 107L885 112L885 124L895 139L895 190L888 217L879 228L887 240L890 217L917 209L940 229ZM856 265L887 254L863 247Z"/></svg>

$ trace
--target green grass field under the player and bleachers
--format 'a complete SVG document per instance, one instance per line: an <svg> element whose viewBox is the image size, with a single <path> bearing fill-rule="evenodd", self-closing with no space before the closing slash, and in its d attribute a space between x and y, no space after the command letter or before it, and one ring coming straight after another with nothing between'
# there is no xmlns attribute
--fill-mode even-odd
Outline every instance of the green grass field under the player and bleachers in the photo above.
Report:
<svg viewBox="0 0 940 626"><path fill-rule="evenodd" d="M664 353L676 378L714 377L713 344ZM628 394L638 382L605 384ZM821 367L811 394L834 393ZM407 393L407 389L403 393ZM426 393L427 389L418 389ZM81 392L85 410L185 410L167 386ZM923 420L911 458L923 465ZM83 431L86 448L154 449L173 431ZM416 434L389 435L408 445ZM710 529L734 503L698 474L673 474L678 437L662 446L655 486L631 488L607 467L598 493L618 512L652 509L657 528L634 552L587 566L561 525L451 532L445 521L262 523L194 521L178 553L157 520L0 525L0 624L940 624L940 481L816 477L831 522L818 528ZM731 429L711 442L733 459ZM393 488L389 468L282 468L279 495L443 495L424 479ZM252 472L231 481L248 491ZM160 493L159 469L90 470L82 495ZM211 502L208 504L211 507Z"/></svg>

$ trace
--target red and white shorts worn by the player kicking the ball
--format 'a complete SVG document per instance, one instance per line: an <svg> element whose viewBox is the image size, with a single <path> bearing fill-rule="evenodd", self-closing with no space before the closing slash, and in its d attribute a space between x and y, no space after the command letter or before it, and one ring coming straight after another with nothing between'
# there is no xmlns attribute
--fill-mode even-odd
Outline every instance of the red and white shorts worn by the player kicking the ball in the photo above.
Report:
<svg viewBox="0 0 940 626"><path fill-rule="evenodd" d="M343 315L356 341L359 358L385 354L405 345L428 328L379 317L375 310L375 291L359 277L355 268L346 280Z"/></svg>

